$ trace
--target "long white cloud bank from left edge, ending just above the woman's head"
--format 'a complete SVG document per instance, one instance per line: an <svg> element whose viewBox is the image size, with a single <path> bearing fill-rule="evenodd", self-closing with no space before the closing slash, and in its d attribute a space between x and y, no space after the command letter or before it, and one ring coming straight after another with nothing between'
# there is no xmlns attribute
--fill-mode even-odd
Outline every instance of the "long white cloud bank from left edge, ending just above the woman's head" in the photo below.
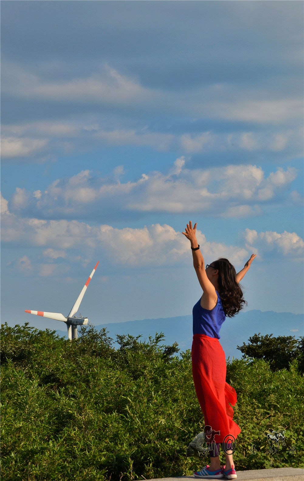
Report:
<svg viewBox="0 0 304 481"><path fill-rule="evenodd" d="M2 215L2 241L23 246L46 246L43 254L51 259L65 257L68 248L101 251L112 264L139 267L174 265L191 258L189 241L171 226L153 224L144 228L90 226L83 222L46 221ZM240 264L248 255L246 249L209 242L197 232L203 254L208 259L228 257ZM55 249L64 249L56 251ZM41 265L40 275L51 275L53 264Z"/></svg>

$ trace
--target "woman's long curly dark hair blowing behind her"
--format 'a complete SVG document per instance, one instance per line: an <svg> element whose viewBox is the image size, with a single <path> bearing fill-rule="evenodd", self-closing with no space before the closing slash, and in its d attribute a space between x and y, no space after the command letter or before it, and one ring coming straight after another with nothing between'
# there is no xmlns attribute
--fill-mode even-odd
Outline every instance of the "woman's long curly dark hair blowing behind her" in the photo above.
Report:
<svg viewBox="0 0 304 481"><path fill-rule="evenodd" d="M243 299L243 292L236 279L236 270L228 259L220 258L214 261L213 266L218 269L219 295L222 300L225 316L233 317L247 302Z"/></svg>

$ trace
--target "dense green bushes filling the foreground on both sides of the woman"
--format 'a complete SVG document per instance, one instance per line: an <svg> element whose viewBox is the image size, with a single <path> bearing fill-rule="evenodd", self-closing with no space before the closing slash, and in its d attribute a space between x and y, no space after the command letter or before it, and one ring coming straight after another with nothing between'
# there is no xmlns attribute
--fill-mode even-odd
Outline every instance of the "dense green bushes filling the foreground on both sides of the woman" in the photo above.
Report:
<svg viewBox="0 0 304 481"><path fill-rule="evenodd" d="M28 324L2 325L2 478L127 481L206 464L185 455L204 426L190 351L174 357L176 345L161 346L162 337L118 336L115 350L104 329L81 329L69 342ZM304 466L296 361L273 372L264 360L233 360L227 381L238 393L237 469ZM267 429L286 430L276 453Z"/></svg>

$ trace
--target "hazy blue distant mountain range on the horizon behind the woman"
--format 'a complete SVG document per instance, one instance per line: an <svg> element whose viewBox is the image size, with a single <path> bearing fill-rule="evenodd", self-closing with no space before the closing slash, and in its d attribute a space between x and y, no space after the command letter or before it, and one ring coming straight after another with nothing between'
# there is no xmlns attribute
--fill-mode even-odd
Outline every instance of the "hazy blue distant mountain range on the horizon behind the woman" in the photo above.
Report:
<svg viewBox="0 0 304 481"><path fill-rule="evenodd" d="M127 321L101 324L96 329L107 328L109 336L116 340L116 334L142 335L141 339L155 336L155 333L164 332L165 344L178 343L181 351L191 349L192 343L192 316L167 317L160 319L143 319L142 321ZM276 336L304 335L304 315L292 314L291 312L274 311L246 311L235 317L226 318L220 330L220 343L230 359L241 358L242 353L237 349L243 342L247 342L250 336L260 332ZM61 336L67 337L67 332L57 331Z"/></svg>

